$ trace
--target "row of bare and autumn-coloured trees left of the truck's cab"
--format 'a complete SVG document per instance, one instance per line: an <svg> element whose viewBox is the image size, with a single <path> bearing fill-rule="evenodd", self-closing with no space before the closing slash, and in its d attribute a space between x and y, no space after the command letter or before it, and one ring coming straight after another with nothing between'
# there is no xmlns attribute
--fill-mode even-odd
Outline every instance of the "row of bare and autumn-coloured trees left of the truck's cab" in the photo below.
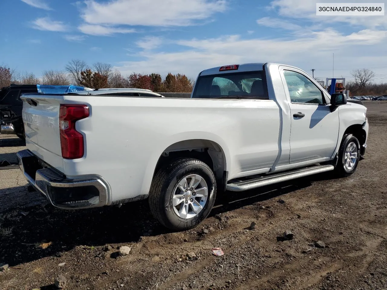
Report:
<svg viewBox="0 0 387 290"><path fill-rule="evenodd" d="M132 73L124 77L120 71L113 70L109 63L87 65L82 60L71 60L62 71L45 70L41 78L31 72L16 72L12 68L0 66L0 88L10 84L20 85L79 85L92 89L101 88L135 88L149 89L154 92L190 93L194 80L184 74L168 73L162 78L159 73L149 75Z"/></svg>

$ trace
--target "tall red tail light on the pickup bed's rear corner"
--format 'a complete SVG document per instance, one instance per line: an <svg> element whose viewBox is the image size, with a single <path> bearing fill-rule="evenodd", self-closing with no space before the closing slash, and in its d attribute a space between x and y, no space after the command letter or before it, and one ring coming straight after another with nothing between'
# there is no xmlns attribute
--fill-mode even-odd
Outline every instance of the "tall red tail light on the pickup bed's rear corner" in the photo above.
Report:
<svg viewBox="0 0 387 290"><path fill-rule="evenodd" d="M86 105L60 105L59 131L62 157L81 158L84 154L83 135L75 130L75 122L89 116Z"/></svg>

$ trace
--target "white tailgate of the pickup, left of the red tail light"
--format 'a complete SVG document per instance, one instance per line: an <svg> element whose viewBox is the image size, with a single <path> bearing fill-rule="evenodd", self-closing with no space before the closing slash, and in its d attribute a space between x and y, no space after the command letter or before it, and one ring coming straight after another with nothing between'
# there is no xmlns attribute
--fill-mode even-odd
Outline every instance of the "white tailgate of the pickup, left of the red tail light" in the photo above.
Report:
<svg viewBox="0 0 387 290"><path fill-rule="evenodd" d="M59 108L63 96L26 95L21 99L27 148L63 172L59 135Z"/></svg>

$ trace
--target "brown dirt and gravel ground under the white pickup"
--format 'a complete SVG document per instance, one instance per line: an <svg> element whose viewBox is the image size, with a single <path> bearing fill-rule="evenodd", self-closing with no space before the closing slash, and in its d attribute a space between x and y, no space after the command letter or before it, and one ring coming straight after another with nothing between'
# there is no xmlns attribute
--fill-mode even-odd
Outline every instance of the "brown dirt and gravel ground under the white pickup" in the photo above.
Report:
<svg viewBox="0 0 387 290"><path fill-rule="evenodd" d="M0 170L0 264L10 267L0 289L56 289L59 274L66 289L387 289L387 102L365 104L370 133L355 174L218 195L185 232L159 225L147 200L58 210L27 192L18 169ZM0 161L24 148L12 136L0 146ZM117 257L119 246L132 250Z"/></svg>

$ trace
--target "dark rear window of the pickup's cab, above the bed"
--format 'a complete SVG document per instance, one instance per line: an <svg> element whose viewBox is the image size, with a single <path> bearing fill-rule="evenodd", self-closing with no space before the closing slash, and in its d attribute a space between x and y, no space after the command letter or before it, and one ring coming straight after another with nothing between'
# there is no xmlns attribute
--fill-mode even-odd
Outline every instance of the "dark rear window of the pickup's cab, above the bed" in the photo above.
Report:
<svg viewBox="0 0 387 290"><path fill-rule="evenodd" d="M199 77L193 98L269 99L264 71Z"/></svg>

